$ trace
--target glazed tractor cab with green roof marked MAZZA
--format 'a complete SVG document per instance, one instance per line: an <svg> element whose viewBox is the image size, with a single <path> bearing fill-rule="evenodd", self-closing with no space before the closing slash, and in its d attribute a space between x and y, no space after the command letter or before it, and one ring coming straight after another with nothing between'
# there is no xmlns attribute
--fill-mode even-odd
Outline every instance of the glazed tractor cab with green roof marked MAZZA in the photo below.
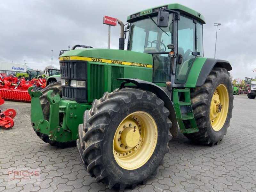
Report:
<svg viewBox="0 0 256 192"><path fill-rule="evenodd" d="M195 58L203 57L205 21L188 7L169 6L128 16L131 24L127 50L153 56L153 83L171 81L174 87L180 87L186 83Z"/></svg>

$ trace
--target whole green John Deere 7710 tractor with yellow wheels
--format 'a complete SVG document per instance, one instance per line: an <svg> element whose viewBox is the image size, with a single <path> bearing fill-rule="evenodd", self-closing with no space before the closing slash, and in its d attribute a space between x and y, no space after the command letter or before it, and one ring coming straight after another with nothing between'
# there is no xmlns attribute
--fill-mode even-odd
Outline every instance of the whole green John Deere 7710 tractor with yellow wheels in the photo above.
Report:
<svg viewBox="0 0 256 192"><path fill-rule="evenodd" d="M156 174L178 124L189 140L213 146L233 108L231 65L203 57L203 15L168 4L127 22L127 50L119 22L119 50L65 52L61 82L29 89L36 134L59 147L77 144L86 171L120 191Z"/></svg>

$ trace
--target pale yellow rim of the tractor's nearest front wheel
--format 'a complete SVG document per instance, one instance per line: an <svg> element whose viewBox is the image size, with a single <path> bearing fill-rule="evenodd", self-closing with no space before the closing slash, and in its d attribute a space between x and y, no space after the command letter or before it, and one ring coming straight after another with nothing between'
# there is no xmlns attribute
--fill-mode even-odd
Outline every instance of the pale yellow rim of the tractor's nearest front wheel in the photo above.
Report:
<svg viewBox="0 0 256 192"><path fill-rule="evenodd" d="M134 112L124 118L116 129L113 153L118 165L134 170L152 156L157 142L157 126L151 115Z"/></svg>

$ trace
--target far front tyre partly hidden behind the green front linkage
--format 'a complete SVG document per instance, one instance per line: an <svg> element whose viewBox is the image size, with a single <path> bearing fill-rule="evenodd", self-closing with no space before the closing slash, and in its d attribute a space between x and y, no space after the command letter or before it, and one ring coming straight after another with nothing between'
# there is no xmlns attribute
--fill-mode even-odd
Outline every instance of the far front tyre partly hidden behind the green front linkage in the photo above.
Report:
<svg viewBox="0 0 256 192"><path fill-rule="evenodd" d="M49 103L48 99L46 98L46 94L50 90L53 90L52 94L59 93L60 97L61 97L62 96L61 82L60 81L54 82L52 84L49 84L48 86L46 86L44 89L41 90L43 95L39 99L40 99L41 107L42 107L42 110L43 110L44 119L47 120L47 121L49 121L50 103ZM50 140L49 136L44 134L44 133L36 132L36 134L38 135L38 137L41 140L43 140L45 143L49 143L52 146L58 146L60 148L67 148L67 147L76 146L76 141L67 141L67 142L53 141L53 140Z"/></svg>

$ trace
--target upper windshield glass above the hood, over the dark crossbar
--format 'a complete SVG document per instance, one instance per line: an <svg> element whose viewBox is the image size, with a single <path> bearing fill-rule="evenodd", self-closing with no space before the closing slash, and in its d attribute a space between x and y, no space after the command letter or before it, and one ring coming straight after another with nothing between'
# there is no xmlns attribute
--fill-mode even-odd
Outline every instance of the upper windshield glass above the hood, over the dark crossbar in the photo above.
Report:
<svg viewBox="0 0 256 192"><path fill-rule="evenodd" d="M169 15L169 24L166 28L157 27L151 19L157 23L157 16L131 23L129 51L169 51L167 45L172 43L172 14Z"/></svg>

